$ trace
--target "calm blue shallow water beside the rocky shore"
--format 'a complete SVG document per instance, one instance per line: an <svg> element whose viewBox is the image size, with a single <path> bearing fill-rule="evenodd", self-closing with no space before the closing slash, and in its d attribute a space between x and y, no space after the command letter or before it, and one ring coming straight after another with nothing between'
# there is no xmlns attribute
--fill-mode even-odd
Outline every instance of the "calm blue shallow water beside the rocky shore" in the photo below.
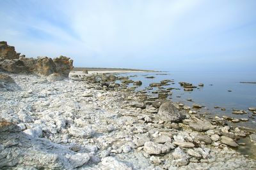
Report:
<svg viewBox="0 0 256 170"><path fill-rule="evenodd" d="M175 84L162 86L164 88L173 87L180 90L172 90L173 94L170 96L174 102L182 102L187 106L192 106L193 103L205 106L200 110L201 113L211 113L211 117L218 115L222 117L226 115L233 118L249 118L249 122L239 122L236 125L242 125L256 129L256 114L248 111L249 107L256 107L256 84L253 83L239 83L240 81L256 81L256 73L213 73L213 72L162 72L162 73L125 73L120 76L131 76L130 79L134 81L141 80L142 85L136 90L143 90L148 87L150 83L158 83L161 80L174 80ZM136 76L135 76L136 75ZM135 76L135 77L133 77ZM155 78L145 78L146 76L154 76ZM179 81L186 81L198 85L204 83L204 87L198 87L191 92L186 92L179 85ZM133 86L132 83L129 86ZM149 90L148 94L154 96L152 91L158 88ZM232 92L228 92L232 90ZM177 97L180 96L180 97ZM192 99L189 102L186 99ZM225 108L225 111L215 109L214 106ZM246 110L248 114L234 115L232 109Z"/></svg>

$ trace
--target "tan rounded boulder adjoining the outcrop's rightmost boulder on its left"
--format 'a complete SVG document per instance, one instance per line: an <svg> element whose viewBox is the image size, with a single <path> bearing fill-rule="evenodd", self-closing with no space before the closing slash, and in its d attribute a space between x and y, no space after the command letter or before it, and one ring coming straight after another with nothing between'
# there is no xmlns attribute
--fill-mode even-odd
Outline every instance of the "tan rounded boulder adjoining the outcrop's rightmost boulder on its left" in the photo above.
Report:
<svg viewBox="0 0 256 170"><path fill-rule="evenodd" d="M49 76L56 72L56 66L53 60L49 57L38 57L36 62L36 73Z"/></svg>

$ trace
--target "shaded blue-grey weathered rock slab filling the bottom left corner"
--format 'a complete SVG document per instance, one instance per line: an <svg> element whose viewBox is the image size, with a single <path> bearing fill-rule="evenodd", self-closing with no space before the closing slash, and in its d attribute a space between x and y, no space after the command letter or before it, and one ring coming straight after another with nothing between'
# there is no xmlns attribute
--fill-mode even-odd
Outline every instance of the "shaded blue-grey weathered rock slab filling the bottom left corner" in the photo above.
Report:
<svg viewBox="0 0 256 170"><path fill-rule="evenodd" d="M47 139L31 138L10 122L0 122L0 141L1 169L72 169L90 160L88 153L75 153Z"/></svg>

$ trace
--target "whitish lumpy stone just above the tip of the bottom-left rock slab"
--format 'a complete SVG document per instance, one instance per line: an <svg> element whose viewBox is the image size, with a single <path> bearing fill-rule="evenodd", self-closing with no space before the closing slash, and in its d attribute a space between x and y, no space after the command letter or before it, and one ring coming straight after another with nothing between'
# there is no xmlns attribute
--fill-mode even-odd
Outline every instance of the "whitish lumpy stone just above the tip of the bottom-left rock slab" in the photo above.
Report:
<svg viewBox="0 0 256 170"><path fill-rule="evenodd" d="M68 128L68 132L75 137L82 137L82 138L91 138L94 134L94 131L91 126L88 127L76 127L74 125L70 125Z"/></svg>

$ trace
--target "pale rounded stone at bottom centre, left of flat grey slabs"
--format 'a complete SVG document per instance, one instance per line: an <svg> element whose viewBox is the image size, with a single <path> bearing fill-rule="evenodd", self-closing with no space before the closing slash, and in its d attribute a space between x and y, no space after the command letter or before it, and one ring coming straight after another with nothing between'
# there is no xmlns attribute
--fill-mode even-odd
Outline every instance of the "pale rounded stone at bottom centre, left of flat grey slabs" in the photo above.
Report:
<svg viewBox="0 0 256 170"><path fill-rule="evenodd" d="M161 153L169 152L170 148L168 148L168 146L166 145L162 145L152 141L147 141L144 144L143 150L150 155L159 155Z"/></svg>

